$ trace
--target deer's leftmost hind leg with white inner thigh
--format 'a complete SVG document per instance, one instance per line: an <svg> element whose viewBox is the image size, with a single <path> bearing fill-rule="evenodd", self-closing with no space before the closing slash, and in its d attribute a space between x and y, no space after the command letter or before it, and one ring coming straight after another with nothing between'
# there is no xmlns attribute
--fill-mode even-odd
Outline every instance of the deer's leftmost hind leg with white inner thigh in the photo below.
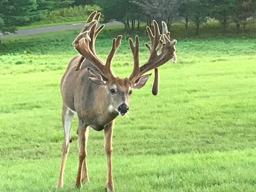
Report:
<svg viewBox="0 0 256 192"><path fill-rule="evenodd" d="M68 151L71 142L71 136L70 136L70 130L72 125L72 120L74 118L74 113L66 106L66 104L63 103L62 106L62 124L64 128L64 143L62 146L62 161L61 161L61 167L60 167L60 177L58 180L58 188L63 187L63 176L64 176L64 170L66 165L66 160L68 156Z"/></svg>

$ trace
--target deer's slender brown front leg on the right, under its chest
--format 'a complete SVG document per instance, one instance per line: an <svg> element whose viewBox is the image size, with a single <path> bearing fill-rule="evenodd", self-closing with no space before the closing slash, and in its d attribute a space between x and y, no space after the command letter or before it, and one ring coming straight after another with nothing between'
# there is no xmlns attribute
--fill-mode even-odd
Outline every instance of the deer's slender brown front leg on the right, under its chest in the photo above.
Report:
<svg viewBox="0 0 256 192"><path fill-rule="evenodd" d="M113 129L114 129L114 120L107 124L104 128L104 135L105 135L105 150L107 155L107 164L108 164L108 172L107 172L107 183L106 183L106 190L107 191L114 191L114 182L112 176L112 136L113 136Z"/></svg>

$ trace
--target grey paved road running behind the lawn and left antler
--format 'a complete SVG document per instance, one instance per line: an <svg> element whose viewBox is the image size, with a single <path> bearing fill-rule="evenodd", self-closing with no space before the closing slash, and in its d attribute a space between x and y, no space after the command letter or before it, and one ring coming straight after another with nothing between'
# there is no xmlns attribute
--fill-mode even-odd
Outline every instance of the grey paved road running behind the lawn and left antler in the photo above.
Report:
<svg viewBox="0 0 256 192"><path fill-rule="evenodd" d="M116 26L116 25L122 25L122 23L115 21L115 22L106 23L105 25ZM41 28L35 28L35 29L18 30L17 34L1 35L1 38L6 39L11 37L34 35L39 33L75 30L75 29L82 29L83 27L84 27L84 23L80 23L80 24L72 24L72 25L59 25L59 26L41 27Z"/></svg>

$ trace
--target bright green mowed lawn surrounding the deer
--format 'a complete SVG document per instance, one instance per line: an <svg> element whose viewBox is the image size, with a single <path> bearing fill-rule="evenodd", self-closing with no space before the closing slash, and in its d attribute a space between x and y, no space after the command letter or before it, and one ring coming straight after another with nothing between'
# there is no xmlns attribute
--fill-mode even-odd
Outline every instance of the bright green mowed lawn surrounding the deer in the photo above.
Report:
<svg viewBox="0 0 256 192"><path fill-rule="evenodd" d="M0 191L104 192L103 132L90 131L90 183L74 188L78 142L74 118L64 188L56 189L63 131L60 79L77 53L78 31L3 40L0 46ZM175 38L175 37L173 37ZM140 63L147 61L142 38ZM99 36L106 60L112 39ZM256 40L178 40L178 62L160 67L134 90L130 111L114 128L117 192L256 191ZM129 76L133 58L124 37L113 70Z"/></svg>

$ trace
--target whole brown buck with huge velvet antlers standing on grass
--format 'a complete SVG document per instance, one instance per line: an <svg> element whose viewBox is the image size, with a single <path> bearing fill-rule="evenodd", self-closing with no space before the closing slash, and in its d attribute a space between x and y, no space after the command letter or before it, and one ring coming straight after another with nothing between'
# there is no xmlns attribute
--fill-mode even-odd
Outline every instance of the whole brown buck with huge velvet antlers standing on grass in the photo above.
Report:
<svg viewBox="0 0 256 192"><path fill-rule="evenodd" d="M113 39L112 49L106 60L106 64L98 58L95 51L95 40L104 25L98 27L100 12L92 12L84 28L76 37L72 45L81 54L73 58L61 80L61 94L63 98L62 123L64 128L64 144L62 148L62 162L60 177L57 187L63 187L63 176L68 151L70 148L70 129L74 114L78 116L78 143L79 143L79 165L76 178L76 187L81 187L83 182L89 181L86 155L89 127L94 130L104 130L105 151L107 156L107 181L106 190L114 191L112 177L112 136L115 118L124 116L129 110L130 96L133 89L140 89L155 70L155 79L152 88L153 94L158 93L158 67L169 60L175 62L176 40L170 41L165 22L162 22L162 34L156 21L154 23L154 34L147 27L151 47L148 62L139 66L139 38L136 43L129 39L130 48L134 58L134 68L129 78L115 77L111 70L111 62L120 46L122 36ZM98 28L97 28L98 27ZM161 49L161 51L160 51ZM160 52L158 54L158 52Z"/></svg>

